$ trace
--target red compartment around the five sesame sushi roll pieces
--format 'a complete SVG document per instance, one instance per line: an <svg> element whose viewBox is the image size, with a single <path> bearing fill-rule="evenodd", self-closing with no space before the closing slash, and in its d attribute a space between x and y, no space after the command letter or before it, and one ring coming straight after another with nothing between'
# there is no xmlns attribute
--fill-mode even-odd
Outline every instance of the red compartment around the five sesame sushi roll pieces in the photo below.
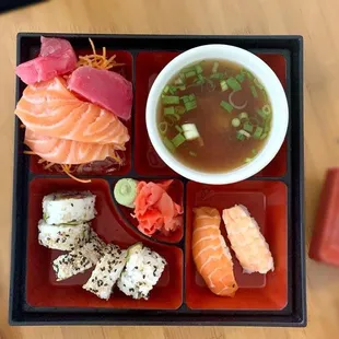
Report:
<svg viewBox="0 0 339 339"><path fill-rule="evenodd" d="M51 261L62 253L38 244L37 222L42 219L43 197L60 190L91 190L96 195L97 217L92 226L105 242L113 242L122 248L142 242L167 260L168 265L148 301L132 300L118 289L115 289L115 293L107 302L100 300L81 288L89 279L91 271L62 282L56 281ZM92 179L91 184L83 185L68 178L36 178L31 182L28 201L26 300L31 306L176 309L182 305L182 249L155 244L139 236L127 226L115 210L107 182Z"/></svg>

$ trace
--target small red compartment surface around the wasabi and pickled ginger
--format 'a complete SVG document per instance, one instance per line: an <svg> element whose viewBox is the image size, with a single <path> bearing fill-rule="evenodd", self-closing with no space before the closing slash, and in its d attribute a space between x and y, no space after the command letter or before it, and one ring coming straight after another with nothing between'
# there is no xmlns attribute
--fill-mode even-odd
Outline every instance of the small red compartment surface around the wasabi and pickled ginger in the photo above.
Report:
<svg viewBox="0 0 339 339"><path fill-rule="evenodd" d="M144 182L149 183L149 179L145 179ZM161 183L163 180L152 180L153 183ZM115 183L113 184L113 187L115 186ZM170 197L173 199L174 202L180 204L184 207L184 184L183 182L178 180L178 179L174 179L173 183L171 184L167 194L170 195ZM137 229L138 226L138 221L137 219L135 219L131 214L133 213L133 209L129 209L127 207L124 206L118 206L117 207L119 212L122 213L122 215L125 217L125 219L132 224L136 227L136 232L139 232L139 230ZM145 236L145 235L143 235ZM168 235L164 235L161 233L155 233L154 235L152 235L152 238L162 241L162 242L166 242L166 243L178 243L184 236L184 225L183 227L176 230L173 233L170 233Z"/></svg>

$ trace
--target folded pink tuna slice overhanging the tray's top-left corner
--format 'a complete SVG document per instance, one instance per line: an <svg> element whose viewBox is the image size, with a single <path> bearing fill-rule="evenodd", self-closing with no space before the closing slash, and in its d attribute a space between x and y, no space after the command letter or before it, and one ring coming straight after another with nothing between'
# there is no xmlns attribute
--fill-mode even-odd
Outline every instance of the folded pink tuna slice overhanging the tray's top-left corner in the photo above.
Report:
<svg viewBox="0 0 339 339"><path fill-rule="evenodd" d="M71 44L66 39L42 36L39 56L16 67L16 75L26 84L51 80L73 71L77 56Z"/></svg>

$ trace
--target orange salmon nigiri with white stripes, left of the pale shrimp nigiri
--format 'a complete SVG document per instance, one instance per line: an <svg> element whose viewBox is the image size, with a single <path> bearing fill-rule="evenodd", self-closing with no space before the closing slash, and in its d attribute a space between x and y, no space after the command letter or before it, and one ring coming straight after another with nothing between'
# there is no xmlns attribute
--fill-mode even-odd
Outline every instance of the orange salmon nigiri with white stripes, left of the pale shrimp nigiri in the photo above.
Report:
<svg viewBox="0 0 339 339"><path fill-rule="evenodd" d="M217 295L234 296L237 283L233 261L220 232L221 217L217 209L194 209L192 257L198 272Z"/></svg>

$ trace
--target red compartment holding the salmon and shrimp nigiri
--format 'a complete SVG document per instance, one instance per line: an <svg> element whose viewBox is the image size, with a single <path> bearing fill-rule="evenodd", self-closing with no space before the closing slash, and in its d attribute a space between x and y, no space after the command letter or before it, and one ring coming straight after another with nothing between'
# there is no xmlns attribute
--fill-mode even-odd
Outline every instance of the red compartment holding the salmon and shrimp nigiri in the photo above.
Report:
<svg viewBox="0 0 339 339"><path fill-rule="evenodd" d="M241 182L209 186L187 185L186 204L186 303L192 309L282 309L288 303L288 214L287 186L281 182ZM257 220L270 246L274 271L246 274L235 258L235 279L239 285L234 297L214 295L197 272L191 257L192 208L223 209L244 204ZM226 242L223 222L221 231ZM230 245L230 243L229 243Z"/></svg>

